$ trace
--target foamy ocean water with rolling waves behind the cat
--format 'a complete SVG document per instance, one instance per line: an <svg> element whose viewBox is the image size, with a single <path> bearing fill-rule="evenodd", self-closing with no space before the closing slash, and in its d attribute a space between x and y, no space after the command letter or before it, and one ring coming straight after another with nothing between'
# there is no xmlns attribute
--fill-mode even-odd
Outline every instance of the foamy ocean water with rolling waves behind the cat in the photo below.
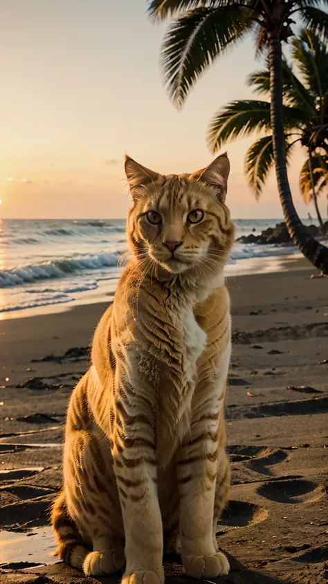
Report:
<svg viewBox="0 0 328 584"><path fill-rule="evenodd" d="M237 236L277 222L235 220ZM0 319L109 301L125 251L125 220L0 220ZM236 242L227 274L274 270L291 254L298 249Z"/></svg>

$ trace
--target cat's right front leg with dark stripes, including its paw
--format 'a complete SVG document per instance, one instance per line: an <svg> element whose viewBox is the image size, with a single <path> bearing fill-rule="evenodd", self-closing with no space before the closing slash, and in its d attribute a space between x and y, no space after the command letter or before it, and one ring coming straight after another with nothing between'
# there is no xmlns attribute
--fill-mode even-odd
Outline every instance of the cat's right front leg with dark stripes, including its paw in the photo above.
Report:
<svg viewBox="0 0 328 584"><path fill-rule="evenodd" d="M213 540L215 487L220 463L219 411L194 420L188 442L177 457L180 533L185 573L193 578L217 578L229 572L226 556Z"/></svg>

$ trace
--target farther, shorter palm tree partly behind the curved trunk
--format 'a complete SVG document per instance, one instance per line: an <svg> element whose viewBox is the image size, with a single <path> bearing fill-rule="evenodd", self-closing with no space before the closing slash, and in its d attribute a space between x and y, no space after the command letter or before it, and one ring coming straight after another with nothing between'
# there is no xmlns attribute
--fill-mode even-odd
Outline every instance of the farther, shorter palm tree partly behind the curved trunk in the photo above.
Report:
<svg viewBox="0 0 328 584"><path fill-rule="evenodd" d="M292 67L284 60L282 92L286 162L289 163L295 144L300 143L307 153L300 180L301 193L306 202L313 200L323 230L316 186L319 172L322 177L325 169L320 153L328 155L328 49L326 43L310 30L302 30L292 44L293 65L300 71L301 78L295 76ZM257 94L270 96L268 67L250 75L248 85L255 87ZM248 184L259 198L274 164L270 103L237 100L226 105L210 122L208 143L215 152L227 141L253 132L270 132L250 146L245 158Z"/></svg>

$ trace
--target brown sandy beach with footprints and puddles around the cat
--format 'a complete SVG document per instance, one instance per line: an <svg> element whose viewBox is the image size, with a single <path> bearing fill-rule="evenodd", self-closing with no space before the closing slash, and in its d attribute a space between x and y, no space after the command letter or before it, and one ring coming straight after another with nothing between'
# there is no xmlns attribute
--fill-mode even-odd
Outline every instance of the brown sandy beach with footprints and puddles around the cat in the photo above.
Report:
<svg viewBox="0 0 328 584"><path fill-rule="evenodd" d="M305 260L227 279L226 400L233 486L218 525L218 583L328 580L328 295ZM48 507L61 484L66 405L104 303L0 321L1 584L116 583L58 563ZM165 558L167 582L188 582Z"/></svg>

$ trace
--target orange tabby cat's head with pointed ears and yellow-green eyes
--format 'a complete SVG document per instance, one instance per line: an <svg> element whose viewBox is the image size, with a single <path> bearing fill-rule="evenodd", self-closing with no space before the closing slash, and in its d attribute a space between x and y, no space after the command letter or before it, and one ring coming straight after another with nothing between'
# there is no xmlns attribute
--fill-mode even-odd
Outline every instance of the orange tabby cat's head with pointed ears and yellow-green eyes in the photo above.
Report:
<svg viewBox="0 0 328 584"><path fill-rule="evenodd" d="M172 274L193 269L217 275L234 240L225 204L229 170L226 154L183 175L161 175L126 157L134 203L127 232L134 255Z"/></svg>

